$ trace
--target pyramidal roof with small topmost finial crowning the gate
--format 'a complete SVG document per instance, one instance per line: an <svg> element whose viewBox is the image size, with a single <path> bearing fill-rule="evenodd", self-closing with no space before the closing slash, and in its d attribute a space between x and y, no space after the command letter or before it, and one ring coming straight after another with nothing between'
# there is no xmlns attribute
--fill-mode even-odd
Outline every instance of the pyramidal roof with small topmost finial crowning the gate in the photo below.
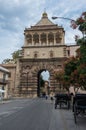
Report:
<svg viewBox="0 0 86 130"><path fill-rule="evenodd" d="M53 22L51 22L49 19L48 19L48 16L47 16L47 13L44 12L42 14L42 18L41 20L35 24L35 26L44 26L44 25L55 25Z"/></svg>

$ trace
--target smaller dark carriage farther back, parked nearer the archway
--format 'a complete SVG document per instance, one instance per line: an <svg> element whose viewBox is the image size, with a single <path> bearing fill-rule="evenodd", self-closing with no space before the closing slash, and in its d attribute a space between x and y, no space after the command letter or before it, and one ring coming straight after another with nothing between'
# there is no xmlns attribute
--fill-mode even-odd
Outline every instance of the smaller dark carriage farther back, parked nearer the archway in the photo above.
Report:
<svg viewBox="0 0 86 130"><path fill-rule="evenodd" d="M71 96L69 94L65 94L65 93L56 94L55 95L55 109L57 108L57 105L59 105L60 108L66 105L67 108L69 109L70 100L71 100Z"/></svg>

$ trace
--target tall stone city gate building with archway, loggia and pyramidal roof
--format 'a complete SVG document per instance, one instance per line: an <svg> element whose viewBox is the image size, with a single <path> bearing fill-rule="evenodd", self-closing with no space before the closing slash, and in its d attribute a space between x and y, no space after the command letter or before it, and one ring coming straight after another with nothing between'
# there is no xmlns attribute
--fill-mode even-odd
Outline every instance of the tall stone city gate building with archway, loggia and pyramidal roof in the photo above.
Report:
<svg viewBox="0 0 86 130"><path fill-rule="evenodd" d="M58 84L54 72L63 69L63 63L76 54L76 49L76 46L65 45L64 28L50 21L44 12L34 26L25 28L22 56L16 65L5 66L13 75L10 78L11 93L20 97L40 96L39 80L43 71L50 73L49 93L56 91Z"/></svg>

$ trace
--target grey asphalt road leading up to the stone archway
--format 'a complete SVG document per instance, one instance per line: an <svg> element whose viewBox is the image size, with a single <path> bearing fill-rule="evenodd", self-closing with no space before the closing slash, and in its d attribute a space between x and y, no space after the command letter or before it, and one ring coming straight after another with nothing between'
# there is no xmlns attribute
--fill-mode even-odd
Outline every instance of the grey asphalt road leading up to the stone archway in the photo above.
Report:
<svg viewBox="0 0 86 130"><path fill-rule="evenodd" d="M0 130L85 130L86 119L74 123L72 110L54 109L45 99L17 99L0 104Z"/></svg>

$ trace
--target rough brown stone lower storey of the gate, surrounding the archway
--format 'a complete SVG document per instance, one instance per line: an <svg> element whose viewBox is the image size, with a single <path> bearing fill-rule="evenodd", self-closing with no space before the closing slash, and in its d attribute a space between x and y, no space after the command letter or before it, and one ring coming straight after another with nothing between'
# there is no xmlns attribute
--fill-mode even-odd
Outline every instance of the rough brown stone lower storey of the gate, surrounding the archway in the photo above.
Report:
<svg viewBox="0 0 86 130"><path fill-rule="evenodd" d="M40 59L40 60L24 60L19 62L19 96L39 97L40 91L40 75L44 71L49 72L49 92L56 91L57 83L54 79L54 72L61 69L64 59ZM27 82L28 81L28 82ZM21 90L21 91L20 91Z"/></svg>

